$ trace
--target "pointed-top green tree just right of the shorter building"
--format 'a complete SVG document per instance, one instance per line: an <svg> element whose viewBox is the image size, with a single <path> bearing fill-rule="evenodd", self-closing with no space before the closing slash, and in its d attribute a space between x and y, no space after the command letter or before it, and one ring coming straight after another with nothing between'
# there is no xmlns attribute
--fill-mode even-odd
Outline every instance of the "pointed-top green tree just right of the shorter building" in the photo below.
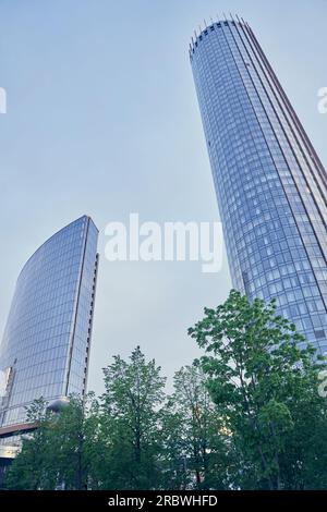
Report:
<svg viewBox="0 0 327 512"><path fill-rule="evenodd" d="M155 361L145 361L137 346L123 361L104 369L101 429L107 461L102 487L107 489L155 488L159 479L158 434L166 378Z"/></svg>

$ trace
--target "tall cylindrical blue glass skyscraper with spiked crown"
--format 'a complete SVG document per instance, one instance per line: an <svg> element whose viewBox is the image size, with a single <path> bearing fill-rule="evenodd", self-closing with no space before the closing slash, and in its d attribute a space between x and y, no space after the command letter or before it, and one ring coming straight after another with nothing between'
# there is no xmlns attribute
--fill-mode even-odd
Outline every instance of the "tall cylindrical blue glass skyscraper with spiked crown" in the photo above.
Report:
<svg viewBox="0 0 327 512"><path fill-rule="evenodd" d="M324 353L326 171L247 23L207 26L190 58L232 284Z"/></svg>

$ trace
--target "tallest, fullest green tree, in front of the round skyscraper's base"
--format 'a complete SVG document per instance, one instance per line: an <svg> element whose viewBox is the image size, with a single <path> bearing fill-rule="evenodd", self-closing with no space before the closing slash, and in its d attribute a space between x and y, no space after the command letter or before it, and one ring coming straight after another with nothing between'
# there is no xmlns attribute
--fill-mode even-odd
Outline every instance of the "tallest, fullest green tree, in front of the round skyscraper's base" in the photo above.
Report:
<svg viewBox="0 0 327 512"><path fill-rule="evenodd" d="M326 425L315 350L276 314L274 301L250 302L237 291L206 308L189 333L206 351L199 364L242 465L233 486L310 487L310 446L318 424Z"/></svg>

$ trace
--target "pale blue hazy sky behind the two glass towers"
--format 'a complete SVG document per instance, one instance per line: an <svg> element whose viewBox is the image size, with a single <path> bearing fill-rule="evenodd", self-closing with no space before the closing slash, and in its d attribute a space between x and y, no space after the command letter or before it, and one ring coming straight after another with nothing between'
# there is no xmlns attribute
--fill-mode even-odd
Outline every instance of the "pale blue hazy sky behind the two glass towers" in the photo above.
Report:
<svg viewBox="0 0 327 512"><path fill-rule="evenodd" d="M168 376L198 354L186 329L223 301L228 266L108 263L104 229L125 221L214 221L218 209L187 46L222 11L259 39L323 162L327 1L1 0L0 114L3 331L16 277L32 253L83 214L100 230L89 388L141 344Z"/></svg>

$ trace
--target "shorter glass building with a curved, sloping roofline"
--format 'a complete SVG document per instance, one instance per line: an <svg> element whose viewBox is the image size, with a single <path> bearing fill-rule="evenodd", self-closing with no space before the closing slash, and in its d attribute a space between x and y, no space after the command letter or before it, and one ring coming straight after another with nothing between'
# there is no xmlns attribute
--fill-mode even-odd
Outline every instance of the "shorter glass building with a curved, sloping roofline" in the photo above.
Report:
<svg viewBox="0 0 327 512"><path fill-rule="evenodd" d="M35 399L84 393L97 239L97 228L84 216L45 242L24 266L0 345L0 369L7 373L0 427L23 423Z"/></svg>

